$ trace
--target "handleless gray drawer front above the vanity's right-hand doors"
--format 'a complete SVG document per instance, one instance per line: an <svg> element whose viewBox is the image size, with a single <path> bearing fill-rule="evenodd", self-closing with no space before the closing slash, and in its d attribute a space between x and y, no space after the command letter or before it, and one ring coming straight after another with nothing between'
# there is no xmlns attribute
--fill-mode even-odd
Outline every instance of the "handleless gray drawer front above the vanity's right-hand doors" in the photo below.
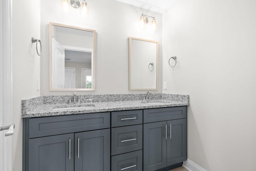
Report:
<svg viewBox="0 0 256 171"><path fill-rule="evenodd" d="M144 109L143 114L143 123L183 119L187 117L187 107Z"/></svg>

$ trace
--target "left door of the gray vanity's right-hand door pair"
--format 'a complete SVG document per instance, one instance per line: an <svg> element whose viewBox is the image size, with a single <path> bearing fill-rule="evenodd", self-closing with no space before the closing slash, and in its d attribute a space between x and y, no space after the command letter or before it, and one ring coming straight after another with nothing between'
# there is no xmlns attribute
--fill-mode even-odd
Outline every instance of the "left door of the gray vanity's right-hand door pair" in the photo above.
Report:
<svg viewBox="0 0 256 171"><path fill-rule="evenodd" d="M143 170L166 167L166 121L144 124Z"/></svg>

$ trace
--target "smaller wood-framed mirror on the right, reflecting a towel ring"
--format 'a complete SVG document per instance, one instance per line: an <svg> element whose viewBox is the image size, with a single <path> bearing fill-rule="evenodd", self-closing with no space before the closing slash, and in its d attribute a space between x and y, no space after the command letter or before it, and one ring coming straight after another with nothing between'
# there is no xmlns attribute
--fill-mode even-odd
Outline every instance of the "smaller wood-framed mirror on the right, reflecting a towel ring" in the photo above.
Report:
<svg viewBox="0 0 256 171"><path fill-rule="evenodd" d="M158 89L158 42L129 38L129 90Z"/></svg>

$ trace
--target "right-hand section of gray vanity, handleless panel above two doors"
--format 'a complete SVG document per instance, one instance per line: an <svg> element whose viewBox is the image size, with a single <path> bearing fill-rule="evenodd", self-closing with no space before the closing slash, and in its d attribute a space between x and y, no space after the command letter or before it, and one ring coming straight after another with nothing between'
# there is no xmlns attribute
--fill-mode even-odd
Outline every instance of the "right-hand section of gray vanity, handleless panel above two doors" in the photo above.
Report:
<svg viewBox="0 0 256 171"><path fill-rule="evenodd" d="M145 123L143 129L144 171L155 171L186 161L186 117L186 106L144 109L144 122L152 122Z"/></svg>

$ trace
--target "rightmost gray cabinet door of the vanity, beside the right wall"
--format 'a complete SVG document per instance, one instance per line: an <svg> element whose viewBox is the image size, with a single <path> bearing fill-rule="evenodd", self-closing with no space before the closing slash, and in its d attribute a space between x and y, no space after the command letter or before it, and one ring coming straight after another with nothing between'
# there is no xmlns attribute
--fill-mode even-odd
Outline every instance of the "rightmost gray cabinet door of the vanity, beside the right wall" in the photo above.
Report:
<svg viewBox="0 0 256 171"><path fill-rule="evenodd" d="M169 166L187 159L187 119L167 121L167 125L167 166Z"/></svg>

